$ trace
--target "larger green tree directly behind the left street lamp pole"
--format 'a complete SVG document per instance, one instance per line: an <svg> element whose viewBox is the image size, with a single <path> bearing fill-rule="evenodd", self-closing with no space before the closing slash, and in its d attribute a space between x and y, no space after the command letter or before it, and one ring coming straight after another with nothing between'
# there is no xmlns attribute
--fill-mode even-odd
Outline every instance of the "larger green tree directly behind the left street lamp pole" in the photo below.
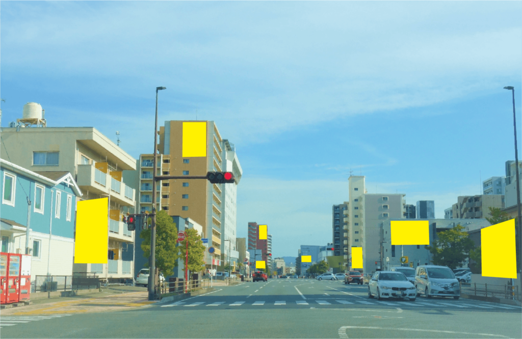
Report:
<svg viewBox="0 0 522 339"><path fill-rule="evenodd" d="M144 229L140 233L140 238L144 239L141 243L143 256L150 257L150 228ZM165 211L156 214L156 267L165 276L174 274L174 267L177 266L177 228L172 221L172 217ZM146 267L149 263L146 263Z"/></svg>

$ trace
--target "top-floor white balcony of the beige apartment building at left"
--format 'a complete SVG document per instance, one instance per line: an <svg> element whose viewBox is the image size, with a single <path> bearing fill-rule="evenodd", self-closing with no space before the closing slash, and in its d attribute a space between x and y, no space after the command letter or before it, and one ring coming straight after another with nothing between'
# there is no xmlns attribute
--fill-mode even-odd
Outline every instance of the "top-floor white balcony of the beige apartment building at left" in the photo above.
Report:
<svg viewBox="0 0 522 339"><path fill-rule="evenodd" d="M81 190L94 194L111 195L111 201L123 206L135 205L135 189L101 172L93 165L78 165L76 183ZM110 186L109 186L110 185Z"/></svg>

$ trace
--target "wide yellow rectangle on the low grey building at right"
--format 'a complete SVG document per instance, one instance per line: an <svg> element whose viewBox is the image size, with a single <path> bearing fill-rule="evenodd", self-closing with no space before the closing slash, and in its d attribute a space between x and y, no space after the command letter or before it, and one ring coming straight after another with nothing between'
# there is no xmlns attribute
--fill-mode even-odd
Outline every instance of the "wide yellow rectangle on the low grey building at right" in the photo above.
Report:
<svg viewBox="0 0 522 339"><path fill-rule="evenodd" d="M428 220L390 221L392 245L430 245Z"/></svg>

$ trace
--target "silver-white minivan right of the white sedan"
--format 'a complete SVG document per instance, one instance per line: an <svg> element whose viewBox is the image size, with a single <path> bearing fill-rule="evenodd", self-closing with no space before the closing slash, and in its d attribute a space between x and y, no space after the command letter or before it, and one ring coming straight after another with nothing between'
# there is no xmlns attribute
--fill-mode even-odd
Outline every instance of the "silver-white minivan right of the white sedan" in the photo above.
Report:
<svg viewBox="0 0 522 339"><path fill-rule="evenodd" d="M417 296L460 297L460 284L455 274L446 266L422 265L415 272Z"/></svg>

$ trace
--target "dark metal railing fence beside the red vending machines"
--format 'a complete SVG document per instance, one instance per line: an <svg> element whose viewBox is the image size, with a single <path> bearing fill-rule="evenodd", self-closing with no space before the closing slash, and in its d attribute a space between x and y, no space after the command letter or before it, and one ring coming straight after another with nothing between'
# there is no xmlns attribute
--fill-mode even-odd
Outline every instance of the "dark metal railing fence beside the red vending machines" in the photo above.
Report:
<svg viewBox="0 0 522 339"><path fill-rule="evenodd" d="M56 292L98 288L98 275L90 272L73 275L36 275L31 292Z"/></svg>

